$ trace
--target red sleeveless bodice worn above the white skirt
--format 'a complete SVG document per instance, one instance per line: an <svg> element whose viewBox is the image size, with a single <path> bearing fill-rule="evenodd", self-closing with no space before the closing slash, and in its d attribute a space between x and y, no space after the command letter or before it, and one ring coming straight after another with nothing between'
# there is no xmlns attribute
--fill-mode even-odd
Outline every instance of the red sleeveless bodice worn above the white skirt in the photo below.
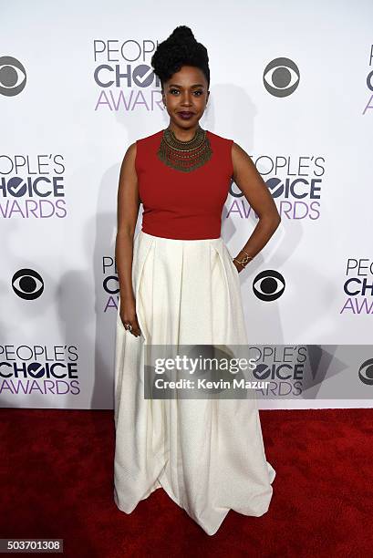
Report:
<svg viewBox="0 0 373 558"><path fill-rule="evenodd" d="M144 233L181 240L221 236L223 205L233 175L233 140L206 132L211 159L189 172L176 171L158 159L162 129L136 141Z"/></svg>

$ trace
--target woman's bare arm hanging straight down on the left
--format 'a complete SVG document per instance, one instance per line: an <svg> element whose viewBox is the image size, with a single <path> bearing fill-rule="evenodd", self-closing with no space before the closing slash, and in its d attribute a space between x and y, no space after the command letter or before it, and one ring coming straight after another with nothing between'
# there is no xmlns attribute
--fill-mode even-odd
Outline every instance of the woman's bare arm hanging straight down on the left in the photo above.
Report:
<svg viewBox="0 0 373 558"><path fill-rule="evenodd" d="M140 326L132 286L133 238L140 208L135 157L136 142L132 143L126 151L120 167L115 259L119 277L120 319L123 325L132 325L130 333L138 337L140 336Z"/></svg>

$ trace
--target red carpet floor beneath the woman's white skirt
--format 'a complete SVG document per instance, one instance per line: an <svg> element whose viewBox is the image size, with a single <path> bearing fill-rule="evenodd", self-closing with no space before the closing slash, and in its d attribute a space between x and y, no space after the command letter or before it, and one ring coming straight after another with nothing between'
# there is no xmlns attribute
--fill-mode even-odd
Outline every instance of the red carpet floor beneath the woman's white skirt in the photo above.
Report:
<svg viewBox="0 0 373 558"><path fill-rule="evenodd" d="M371 555L372 410L261 411L274 497L211 537L162 490L113 501L112 411L0 409L0 538L64 539L68 557ZM19 554L18 554L19 555Z"/></svg>

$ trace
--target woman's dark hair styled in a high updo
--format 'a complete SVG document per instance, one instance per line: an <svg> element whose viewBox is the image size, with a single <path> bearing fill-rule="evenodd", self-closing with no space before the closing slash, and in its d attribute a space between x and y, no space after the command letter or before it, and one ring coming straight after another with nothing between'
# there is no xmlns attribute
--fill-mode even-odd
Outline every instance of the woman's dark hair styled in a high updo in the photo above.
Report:
<svg viewBox="0 0 373 558"><path fill-rule="evenodd" d="M180 71L182 66L199 67L210 87L209 56L206 47L198 43L192 29L187 26L176 27L171 35L157 47L151 57L154 74L161 80L161 88L165 81Z"/></svg>

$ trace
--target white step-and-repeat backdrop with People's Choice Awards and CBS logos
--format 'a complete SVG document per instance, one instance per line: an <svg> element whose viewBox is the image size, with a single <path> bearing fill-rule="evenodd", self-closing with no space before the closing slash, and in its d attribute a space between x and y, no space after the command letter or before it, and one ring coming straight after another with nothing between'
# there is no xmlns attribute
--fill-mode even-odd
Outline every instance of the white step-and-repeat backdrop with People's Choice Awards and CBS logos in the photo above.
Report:
<svg viewBox="0 0 373 558"><path fill-rule="evenodd" d="M373 4L0 6L0 406L113 408L119 168L169 124L150 58L187 25L210 57L202 128L249 153L282 217L240 274L261 407L371 407ZM233 182L233 255L257 222Z"/></svg>

